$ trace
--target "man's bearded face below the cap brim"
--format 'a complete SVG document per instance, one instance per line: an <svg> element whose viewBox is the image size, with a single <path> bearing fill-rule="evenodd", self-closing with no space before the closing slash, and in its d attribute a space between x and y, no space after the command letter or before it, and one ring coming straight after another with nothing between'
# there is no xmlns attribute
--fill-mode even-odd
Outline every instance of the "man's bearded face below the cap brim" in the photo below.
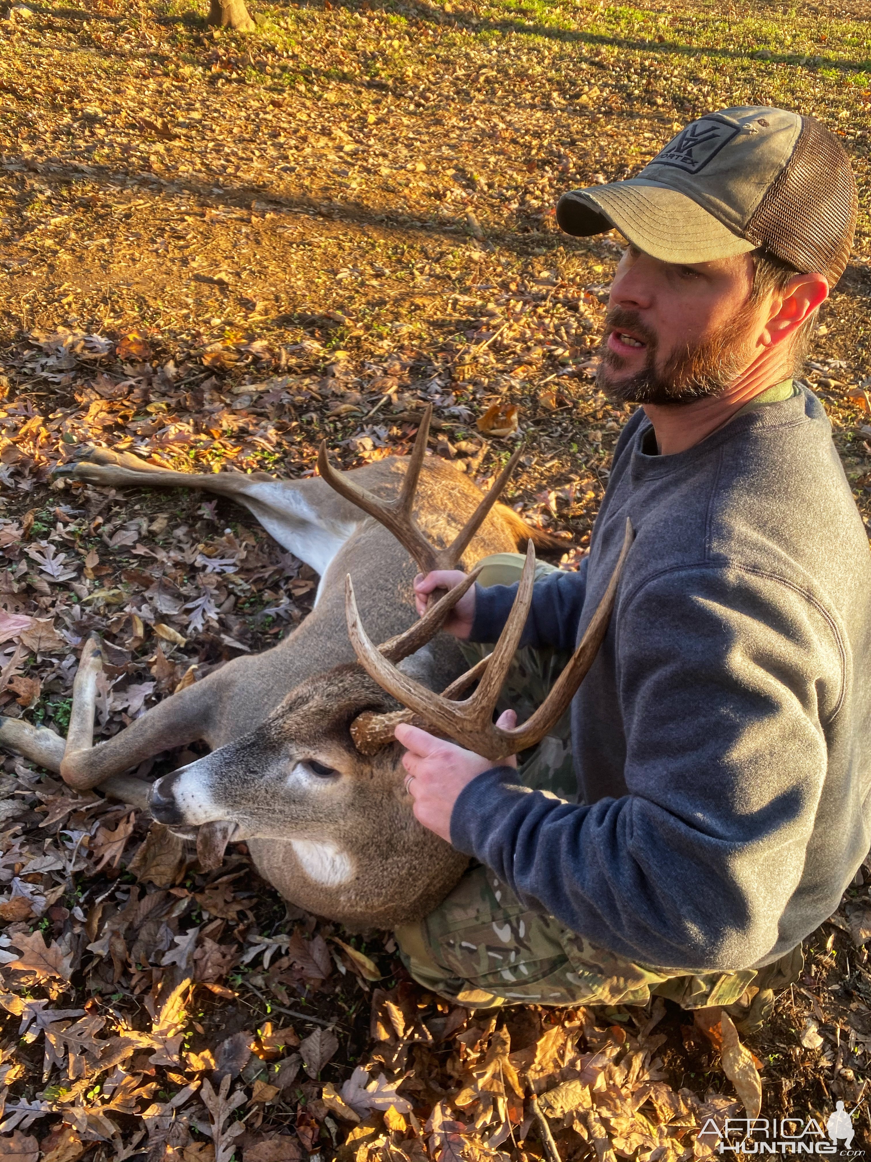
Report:
<svg viewBox="0 0 871 1162"><path fill-rule="evenodd" d="M751 286L748 256L677 266L627 248L611 287L598 386L620 403L720 395L757 350Z"/></svg>

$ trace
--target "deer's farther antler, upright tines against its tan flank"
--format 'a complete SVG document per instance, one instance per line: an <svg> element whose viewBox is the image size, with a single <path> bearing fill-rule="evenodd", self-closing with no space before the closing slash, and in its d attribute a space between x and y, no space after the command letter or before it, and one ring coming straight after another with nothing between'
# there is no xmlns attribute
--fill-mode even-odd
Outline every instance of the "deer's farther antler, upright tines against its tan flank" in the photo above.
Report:
<svg viewBox="0 0 871 1162"><path fill-rule="evenodd" d="M345 500L351 501L352 504L357 504L361 508L363 512L368 512L369 516L374 516L376 521L389 529L390 532L396 537L403 548L406 548L410 555L417 561L418 568L422 573L430 573L432 569L453 569L456 568L462 554L466 552L469 541L475 536L477 530L483 524L487 514L494 507L499 497L503 488L508 483L508 479L514 469L520 457L520 449L514 452L509 462L505 465L499 474L498 480L494 483L490 492L483 497L478 507L472 514L469 519L454 537L451 545L447 548L436 548L430 541L424 537L424 535L418 529L415 523L415 518L411 515L411 510L415 503L415 492L417 490L417 481L420 475L420 468L424 462L424 453L426 452L426 437L430 433L430 421L432 419L432 404L427 404L426 410L420 419L420 426L417 432L417 439L415 440L415 447L409 457L409 467L405 473L405 479L402 482L402 489L399 495L394 501L382 501L377 496L373 496L372 493L361 488L359 485L354 483L344 473L337 472L331 465L326 457L326 440L323 440L317 453L317 467L318 472L323 479L334 488L336 492L344 496Z"/></svg>

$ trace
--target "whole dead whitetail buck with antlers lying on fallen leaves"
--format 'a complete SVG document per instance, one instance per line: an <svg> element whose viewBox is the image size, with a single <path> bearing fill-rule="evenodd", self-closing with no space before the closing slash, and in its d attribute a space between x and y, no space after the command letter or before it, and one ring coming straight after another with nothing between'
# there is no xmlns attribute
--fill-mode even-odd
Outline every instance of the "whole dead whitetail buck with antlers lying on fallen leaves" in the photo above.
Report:
<svg viewBox="0 0 871 1162"><path fill-rule="evenodd" d="M0 745L59 770L71 787L100 786L134 805L147 802L154 818L173 830L199 829L203 860L215 859L215 844L221 853L229 838L245 839L264 878L321 916L352 927L424 916L456 882L466 858L415 819L393 726L399 717L424 722L494 759L531 746L562 713L589 668L617 584L616 576L555 696L513 732L489 725L526 616L524 603L528 607L532 544L553 547L554 540L496 504L516 458L482 497L447 461L424 458L429 422L430 410L410 457L352 473L336 473L322 446L319 479L188 475L105 449L65 469L98 485L199 487L230 496L319 572L321 583L311 614L273 650L235 659L96 745L101 646L92 637L73 686L66 740L0 718ZM485 659L463 674L455 641L438 631L476 574L417 621L415 573L454 568L523 540L530 541L527 566L511 623L492 664ZM346 596L351 575L355 586ZM381 646L361 629L358 608ZM482 674L472 700L451 701ZM411 709L397 710L394 697ZM123 774L195 740L207 743L210 753L151 788Z"/></svg>

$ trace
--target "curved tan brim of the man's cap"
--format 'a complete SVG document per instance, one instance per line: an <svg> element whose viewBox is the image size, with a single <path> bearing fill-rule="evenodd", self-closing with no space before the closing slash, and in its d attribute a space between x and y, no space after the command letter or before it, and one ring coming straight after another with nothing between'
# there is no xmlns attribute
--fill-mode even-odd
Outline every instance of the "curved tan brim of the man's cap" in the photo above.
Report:
<svg viewBox="0 0 871 1162"><path fill-rule="evenodd" d="M712 263L756 249L686 194L638 178L563 194L556 221L578 237L616 227L663 263Z"/></svg>

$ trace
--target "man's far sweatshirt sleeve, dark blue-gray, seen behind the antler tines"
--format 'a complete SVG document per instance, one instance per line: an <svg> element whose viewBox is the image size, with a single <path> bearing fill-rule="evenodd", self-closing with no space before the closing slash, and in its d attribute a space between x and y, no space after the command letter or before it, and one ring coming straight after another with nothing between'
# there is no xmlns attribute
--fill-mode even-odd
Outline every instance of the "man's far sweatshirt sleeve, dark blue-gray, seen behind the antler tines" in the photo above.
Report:
<svg viewBox="0 0 871 1162"><path fill-rule="evenodd" d="M577 627L586 594L586 566L584 557L577 572L557 569L548 573L532 588L532 604L526 627L520 638L521 646L541 650L573 651L577 643ZM511 612L517 596L517 584L494 584L483 589L475 586L475 621L470 641L496 641Z"/></svg>

